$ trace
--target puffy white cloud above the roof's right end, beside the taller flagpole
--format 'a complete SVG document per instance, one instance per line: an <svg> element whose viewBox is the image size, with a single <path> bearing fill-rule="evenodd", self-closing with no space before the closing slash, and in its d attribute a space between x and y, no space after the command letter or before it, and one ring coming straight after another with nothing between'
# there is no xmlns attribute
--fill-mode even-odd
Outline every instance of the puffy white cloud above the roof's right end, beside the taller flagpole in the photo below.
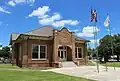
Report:
<svg viewBox="0 0 120 81"><path fill-rule="evenodd" d="M95 30L96 29L96 30ZM77 36L80 37L93 37L94 32L99 32L100 29L94 26L86 26L83 28L82 32L77 33Z"/></svg>

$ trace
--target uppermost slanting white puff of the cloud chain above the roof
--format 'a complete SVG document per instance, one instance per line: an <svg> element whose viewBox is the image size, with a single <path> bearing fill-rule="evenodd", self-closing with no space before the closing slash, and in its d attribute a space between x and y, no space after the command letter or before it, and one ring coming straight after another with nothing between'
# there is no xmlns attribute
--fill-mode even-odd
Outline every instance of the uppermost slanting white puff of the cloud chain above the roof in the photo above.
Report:
<svg viewBox="0 0 120 81"><path fill-rule="evenodd" d="M47 16L45 14L49 11L49 6L39 7L37 10L34 10L31 14L29 14L28 17L37 16L38 18L42 18L44 16Z"/></svg>

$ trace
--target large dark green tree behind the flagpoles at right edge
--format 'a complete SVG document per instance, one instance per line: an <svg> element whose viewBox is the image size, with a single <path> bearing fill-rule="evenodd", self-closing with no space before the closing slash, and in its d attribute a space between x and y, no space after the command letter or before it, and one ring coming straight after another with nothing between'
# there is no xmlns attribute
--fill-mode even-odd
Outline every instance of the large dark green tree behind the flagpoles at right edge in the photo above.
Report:
<svg viewBox="0 0 120 81"><path fill-rule="evenodd" d="M119 61L120 56L120 34L110 36L106 35L99 41L98 46L99 57L105 58L106 61L113 55L117 55L117 61Z"/></svg>

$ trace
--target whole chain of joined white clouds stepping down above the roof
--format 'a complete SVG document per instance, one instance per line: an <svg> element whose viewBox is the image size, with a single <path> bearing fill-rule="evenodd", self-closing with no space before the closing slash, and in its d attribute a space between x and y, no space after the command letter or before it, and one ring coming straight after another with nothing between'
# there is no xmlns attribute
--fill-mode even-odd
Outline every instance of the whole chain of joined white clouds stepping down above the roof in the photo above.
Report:
<svg viewBox="0 0 120 81"><path fill-rule="evenodd" d="M39 19L39 23L41 25L52 25L54 27L61 27L65 25L75 26L79 24L77 20L61 20L62 16L59 13L54 13L52 16L50 16L47 14L50 10L51 9L49 6L39 7L38 9L33 10L33 12L28 15L28 17L36 16Z"/></svg>

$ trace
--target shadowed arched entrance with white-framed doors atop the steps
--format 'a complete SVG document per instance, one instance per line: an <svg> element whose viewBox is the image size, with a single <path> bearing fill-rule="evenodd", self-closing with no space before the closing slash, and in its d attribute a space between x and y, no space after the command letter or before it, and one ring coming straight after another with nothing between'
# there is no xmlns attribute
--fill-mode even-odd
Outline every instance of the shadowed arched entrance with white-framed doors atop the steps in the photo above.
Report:
<svg viewBox="0 0 120 81"><path fill-rule="evenodd" d="M58 57L62 61L72 61L72 49L68 46L59 46Z"/></svg>

